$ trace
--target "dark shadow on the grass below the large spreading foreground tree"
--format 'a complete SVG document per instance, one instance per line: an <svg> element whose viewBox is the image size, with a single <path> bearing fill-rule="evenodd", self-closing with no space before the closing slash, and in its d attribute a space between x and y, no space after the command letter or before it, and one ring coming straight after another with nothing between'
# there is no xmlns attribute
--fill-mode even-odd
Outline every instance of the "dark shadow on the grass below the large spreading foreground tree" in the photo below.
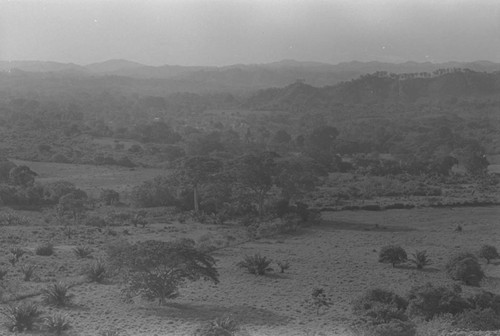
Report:
<svg viewBox="0 0 500 336"><path fill-rule="evenodd" d="M213 321L218 317L230 315L241 324L280 325L289 321L287 316L247 305L224 307L210 304L169 302L161 307L144 307L143 309L147 311L148 315L180 320Z"/></svg>

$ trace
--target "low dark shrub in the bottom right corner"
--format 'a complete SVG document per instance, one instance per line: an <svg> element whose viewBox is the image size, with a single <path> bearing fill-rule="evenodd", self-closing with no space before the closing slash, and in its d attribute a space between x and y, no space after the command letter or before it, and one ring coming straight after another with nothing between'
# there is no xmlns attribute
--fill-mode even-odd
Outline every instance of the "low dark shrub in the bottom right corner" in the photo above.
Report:
<svg viewBox="0 0 500 336"><path fill-rule="evenodd" d="M465 330L498 330L500 316L491 308L469 309L456 316L454 326Z"/></svg>

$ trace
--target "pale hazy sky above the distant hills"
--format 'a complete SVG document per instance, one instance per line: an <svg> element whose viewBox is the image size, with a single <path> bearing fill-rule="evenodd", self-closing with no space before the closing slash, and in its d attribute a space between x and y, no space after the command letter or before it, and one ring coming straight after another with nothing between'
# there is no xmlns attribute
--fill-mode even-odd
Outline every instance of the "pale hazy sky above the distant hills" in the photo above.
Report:
<svg viewBox="0 0 500 336"><path fill-rule="evenodd" d="M0 60L500 62L500 0L0 0Z"/></svg>

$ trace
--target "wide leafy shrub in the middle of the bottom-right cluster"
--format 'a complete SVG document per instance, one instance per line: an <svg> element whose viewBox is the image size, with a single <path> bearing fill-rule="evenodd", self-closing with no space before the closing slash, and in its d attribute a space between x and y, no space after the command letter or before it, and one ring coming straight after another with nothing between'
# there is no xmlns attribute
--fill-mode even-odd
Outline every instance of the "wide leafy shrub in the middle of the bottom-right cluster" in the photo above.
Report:
<svg viewBox="0 0 500 336"><path fill-rule="evenodd" d="M413 287L408 294L408 313L430 320L441 314L458 314L469 308L458 289L434 287L427 283Z"/></svg>

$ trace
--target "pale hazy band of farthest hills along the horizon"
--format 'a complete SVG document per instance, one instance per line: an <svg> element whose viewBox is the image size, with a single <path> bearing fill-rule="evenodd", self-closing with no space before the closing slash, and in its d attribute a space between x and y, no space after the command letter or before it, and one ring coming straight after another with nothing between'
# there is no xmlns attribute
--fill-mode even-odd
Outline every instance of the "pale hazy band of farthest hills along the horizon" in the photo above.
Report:
<svg viewBox="0 0 500 336"><path fill-rule="evenodd" d="M114 81L122 85L151 86L151 94L171 92L242 92L283 87L301 80L322 87L349 81L359 76L385 71L388 73L422 73L437 69L467 68L477 72L500 71L500 63L489 61L399 64L382 62L345 62L336 65L319 62L282 60L267 64L235 64L209 66L148 66L128 60L108 60L89 65L43 61L0 61L0 71L29 76L32 73L50 75L53 80L69 77L73 80ZM38 76L38 77L39 77ZM36 77L36 76L35 76ZM113 78L110 77L120 77ZM137 81L139 80L139 81ZM140 83L140 84L138 84ZM155 90L154 87L158 89Z"/></svg>

